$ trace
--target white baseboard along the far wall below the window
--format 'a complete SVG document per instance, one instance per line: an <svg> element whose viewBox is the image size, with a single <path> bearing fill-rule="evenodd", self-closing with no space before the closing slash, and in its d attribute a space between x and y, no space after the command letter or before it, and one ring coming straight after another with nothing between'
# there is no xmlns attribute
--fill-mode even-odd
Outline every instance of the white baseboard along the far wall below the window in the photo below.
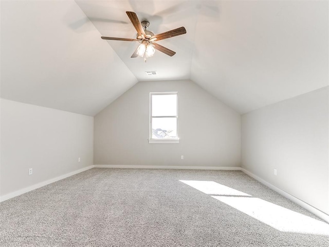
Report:
<svg viewBox="0 0 329 247"><path fill-rule="evenodd" d="M231 170L231 171L241 170L241 167L217 167L217 166L94 165L94 167L95 168L136 168L136 169Z"/></svg>

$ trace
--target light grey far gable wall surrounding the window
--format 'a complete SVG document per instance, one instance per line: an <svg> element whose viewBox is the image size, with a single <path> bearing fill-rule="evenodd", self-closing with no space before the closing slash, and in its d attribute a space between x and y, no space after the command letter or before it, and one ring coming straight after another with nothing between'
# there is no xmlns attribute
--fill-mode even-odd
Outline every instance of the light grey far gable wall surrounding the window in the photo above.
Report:
<svg viewBox="0 0 329 247"><path fill-rule="evenodd" d="M178 92L179 144L149 144L150 92ZM240 167L240 114L194 82L138 82L95 116L95 165ZM184 155L184 160L180 156Z"/></svg>

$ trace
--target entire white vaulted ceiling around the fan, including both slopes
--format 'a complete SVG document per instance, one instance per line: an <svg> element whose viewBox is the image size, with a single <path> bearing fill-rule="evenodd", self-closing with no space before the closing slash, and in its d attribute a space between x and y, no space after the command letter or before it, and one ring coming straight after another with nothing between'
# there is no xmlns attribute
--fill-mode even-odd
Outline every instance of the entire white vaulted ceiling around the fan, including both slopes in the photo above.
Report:
<svg viewBox="0 0 329 247"><path fill-rule="evenodd" d="M125 11L187 34L130 58ZM146 70L156 70L147 76ZM327 1L1 1L1 96L95 115L137 81L191 79L245 113L328 85Z"/></svg>

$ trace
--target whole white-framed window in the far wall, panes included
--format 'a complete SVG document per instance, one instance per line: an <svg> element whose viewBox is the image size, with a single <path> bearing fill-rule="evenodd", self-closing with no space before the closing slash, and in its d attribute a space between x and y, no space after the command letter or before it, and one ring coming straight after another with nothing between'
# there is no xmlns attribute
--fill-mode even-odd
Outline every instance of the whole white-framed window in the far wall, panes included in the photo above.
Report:
<svg viewBox="0 0 329 247"><path fill-rule="evenodd" d="M177 92L150 93L149 143L178 143Z"/></svg>

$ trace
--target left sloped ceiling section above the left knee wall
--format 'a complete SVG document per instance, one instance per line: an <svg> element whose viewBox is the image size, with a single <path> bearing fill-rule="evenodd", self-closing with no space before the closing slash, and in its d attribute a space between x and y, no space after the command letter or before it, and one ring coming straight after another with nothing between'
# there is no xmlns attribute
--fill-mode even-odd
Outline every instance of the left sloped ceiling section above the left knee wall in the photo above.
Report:
<svg viewBox="0 0 329 247"><path fill-rule="evenodd" d="M1 1L1 96L93 116L137 79L74 1Z"/></svg>

